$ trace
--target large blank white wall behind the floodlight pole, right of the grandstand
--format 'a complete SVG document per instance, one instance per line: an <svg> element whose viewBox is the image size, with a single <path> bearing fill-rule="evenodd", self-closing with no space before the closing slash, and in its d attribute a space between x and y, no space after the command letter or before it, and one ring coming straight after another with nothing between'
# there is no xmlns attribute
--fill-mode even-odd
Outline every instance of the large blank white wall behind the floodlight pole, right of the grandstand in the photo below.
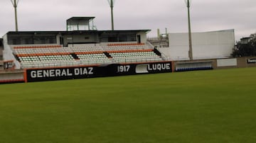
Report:
<svg viewBox="0 0 256 143"><path fill-rule="evenodd" d="M234 30L192 33L193 59L227 58L234 47ZM172 60L188 59L188 33L170 33L163 51Z"/></svg>

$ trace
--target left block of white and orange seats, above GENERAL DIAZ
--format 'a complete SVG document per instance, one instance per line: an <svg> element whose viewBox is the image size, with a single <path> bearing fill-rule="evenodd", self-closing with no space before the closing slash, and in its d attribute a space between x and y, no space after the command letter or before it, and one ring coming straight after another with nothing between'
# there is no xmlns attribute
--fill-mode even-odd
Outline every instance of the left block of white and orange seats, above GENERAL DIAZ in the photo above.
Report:
<svg viewBox="0 0 256 143"><path fill-rule="evenodd" d="M72 50L60 45L14 47L22 68L63 67L78 64L70 55Z"/></svg>

